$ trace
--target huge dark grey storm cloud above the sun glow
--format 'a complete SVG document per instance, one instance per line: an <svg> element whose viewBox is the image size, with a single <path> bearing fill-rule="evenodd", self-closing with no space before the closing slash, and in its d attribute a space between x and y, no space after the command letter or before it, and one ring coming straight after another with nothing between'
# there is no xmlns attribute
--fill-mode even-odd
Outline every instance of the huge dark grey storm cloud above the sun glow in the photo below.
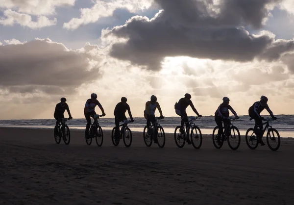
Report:
<svg viewBox="0 0 294 205"><path fill-rule="evenodd" d="M213 5L212 0L156 0L164 10L154 20L133 17L108 33L129 39L114 44L110 54L151 70L159 70L166 56L245 62L263 53L272 58L266 50L273 37L250 35L243 26L261 28L267 7L280 1L221 0Z"/></svg>

